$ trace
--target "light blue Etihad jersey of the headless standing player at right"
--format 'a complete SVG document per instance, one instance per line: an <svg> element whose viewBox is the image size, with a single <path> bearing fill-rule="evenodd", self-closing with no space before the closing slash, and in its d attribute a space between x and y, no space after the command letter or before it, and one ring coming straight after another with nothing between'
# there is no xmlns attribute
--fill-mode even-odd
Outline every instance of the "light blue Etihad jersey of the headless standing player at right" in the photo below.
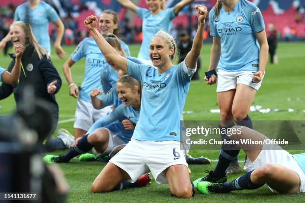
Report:
<svg viewBox="0 0 305 203"><path fill-rule="evenodd" d="M209 13L210 34L221 38L221 57L218 69L226 71L258 71L259 51L255 33L265 29L260 9L248 0L239 0L232 10L215 7Z"/></svg>

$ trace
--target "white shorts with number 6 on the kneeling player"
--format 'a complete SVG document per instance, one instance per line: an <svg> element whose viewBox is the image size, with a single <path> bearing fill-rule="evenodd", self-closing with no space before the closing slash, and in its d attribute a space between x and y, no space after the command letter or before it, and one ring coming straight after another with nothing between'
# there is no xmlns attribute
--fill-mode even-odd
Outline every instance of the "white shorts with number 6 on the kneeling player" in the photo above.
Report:
<svg viewBox="0 0 305 203"><path fill-rule="evenodd" d="M132 182L151 171L158 184L167 183L163 171L168 167L188 167L178 141L153 142L132 139L110 162L128 173Z"/></svg>

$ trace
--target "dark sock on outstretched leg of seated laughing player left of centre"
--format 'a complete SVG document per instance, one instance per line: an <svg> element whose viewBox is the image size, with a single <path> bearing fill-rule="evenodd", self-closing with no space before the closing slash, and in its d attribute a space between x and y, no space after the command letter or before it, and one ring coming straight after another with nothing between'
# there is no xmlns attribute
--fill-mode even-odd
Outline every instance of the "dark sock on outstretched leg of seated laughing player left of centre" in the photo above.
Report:
<svg viewBox="0 0 305 203"><path fill-rule="evenodd" d="M93 145L88 143L88 135L83 136L77 143L76 147L72 147L67 153L63 155L65 162L69 162L74 157L84 154L92 149Z"/></svg>

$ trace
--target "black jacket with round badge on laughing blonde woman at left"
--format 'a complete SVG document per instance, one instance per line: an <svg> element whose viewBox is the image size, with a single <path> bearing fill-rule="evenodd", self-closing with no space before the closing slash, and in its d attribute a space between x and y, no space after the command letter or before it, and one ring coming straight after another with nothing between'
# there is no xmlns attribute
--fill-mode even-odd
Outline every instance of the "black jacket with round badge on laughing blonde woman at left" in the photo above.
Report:
<svg viewBox="0 0 305 203"><path fill-rule="evenodd" d="M14 57L12 58L13 60L7 69L9 72L12 70L15 64L15 59ZM22 55L21 63L24 72L21 68L18 83L14 86L2 83L2 86L0 86L0 100L7 98L13 92L16 105L18 107L24 86L27 83L31 83L34 86L35 97L55 104L58 110L58 104L55 100L54 94L56 94L61 87L61 78L52 62L47 59L46 56L39 59L38 54L34 52L34 47L29 45L26 47ZM57 88L55 93L50 95L47 92L47 87L55 80L57 80Z"/></svg>

